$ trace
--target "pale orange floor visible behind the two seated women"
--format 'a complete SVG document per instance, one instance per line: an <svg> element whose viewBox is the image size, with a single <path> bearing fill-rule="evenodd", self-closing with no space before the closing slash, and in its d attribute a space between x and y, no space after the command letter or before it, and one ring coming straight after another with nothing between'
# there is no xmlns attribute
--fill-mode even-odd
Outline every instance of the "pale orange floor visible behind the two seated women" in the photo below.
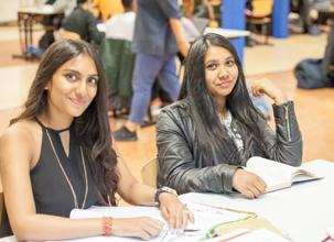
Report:
<svg viewBox="0 0 334 242"><path fill-rule="evenodd" d="M326 36L295 35L288 40L270 40L273 46L246 48L245 73L248 80L269 77L295 101L303 133L304 161L334 161L334 89L301 90L295 88L294 65L306 57L321 57ZM0 28L0 134L15 117L26 98L36 63L12 59L20 52L15 28ZM111 128L121 121L110 120ZM272 124L272 123L271 123ZM157 154L154 127L141 129L138 142L118 142L117 147L139 178L146 161Z"/></svg>

